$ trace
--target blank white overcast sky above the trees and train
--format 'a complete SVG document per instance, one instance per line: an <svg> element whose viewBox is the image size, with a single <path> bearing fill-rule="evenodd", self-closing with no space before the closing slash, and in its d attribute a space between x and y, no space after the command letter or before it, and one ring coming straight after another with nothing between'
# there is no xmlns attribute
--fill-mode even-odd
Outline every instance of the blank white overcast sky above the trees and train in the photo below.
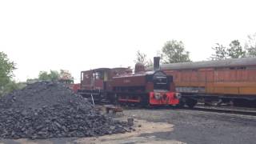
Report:
<svg viewBox="0 0 256 144"><path fill-rule="evenodd" d="M207 60L215 43L246 42L256 32L256 1L8 0L0 1L0 51L15 79L40 70L134 66L136 51L153 58L172 39L192 61Z"/></svg>

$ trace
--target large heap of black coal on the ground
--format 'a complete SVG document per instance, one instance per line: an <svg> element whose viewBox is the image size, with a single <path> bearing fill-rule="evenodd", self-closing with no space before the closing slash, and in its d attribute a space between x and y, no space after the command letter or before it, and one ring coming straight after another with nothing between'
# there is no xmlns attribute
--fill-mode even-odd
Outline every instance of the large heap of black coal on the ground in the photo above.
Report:
<svg viewBox="0 0 256 144"><path fill-rule="evenodd" d="M58 82L35 82L0 98L0 138L90 137L130 131Z"/></svg>

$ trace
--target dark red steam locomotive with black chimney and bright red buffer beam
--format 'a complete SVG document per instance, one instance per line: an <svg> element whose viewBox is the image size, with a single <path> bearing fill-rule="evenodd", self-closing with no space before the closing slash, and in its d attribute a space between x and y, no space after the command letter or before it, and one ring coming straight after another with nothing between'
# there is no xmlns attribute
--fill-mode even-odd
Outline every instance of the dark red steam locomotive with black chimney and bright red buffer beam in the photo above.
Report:
<svg viewBox="0 0 256 144"><path fill-rule="evenodd" d="M154 70L146 71L138 62L134 74L130 68L99 68L81 72L78 94L93 102L133 104L140 106L177 106L181 95L175 92L173 77L159 68L154 58Z"/></svg>

